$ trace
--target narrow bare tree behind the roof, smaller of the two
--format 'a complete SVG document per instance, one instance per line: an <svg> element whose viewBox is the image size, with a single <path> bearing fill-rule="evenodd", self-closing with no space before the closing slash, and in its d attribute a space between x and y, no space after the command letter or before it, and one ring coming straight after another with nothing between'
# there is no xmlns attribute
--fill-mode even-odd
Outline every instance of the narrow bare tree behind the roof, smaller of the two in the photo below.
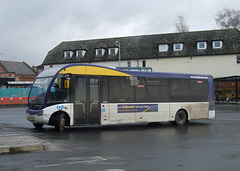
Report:
<svg viewBox="0 0 240 171"><path fill-rule="evenodd" d="M187 24L187 20L185 18L184 13L177 13L177 19L175 22L176 26L176 31L181 33L181 32L188 32L189 31L189 26Z"/></svg>

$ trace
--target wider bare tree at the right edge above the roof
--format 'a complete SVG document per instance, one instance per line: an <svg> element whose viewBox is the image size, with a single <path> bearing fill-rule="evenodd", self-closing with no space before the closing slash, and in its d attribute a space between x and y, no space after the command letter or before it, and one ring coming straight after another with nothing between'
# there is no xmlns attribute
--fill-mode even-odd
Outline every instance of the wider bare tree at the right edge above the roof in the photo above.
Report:
<svg viewBox="0 0 240 171"><path fill-rule="evenodd" d="M215 21L217 25L222 29L240 29L240 11L235 9L223 8L216 13Z"/></svg>

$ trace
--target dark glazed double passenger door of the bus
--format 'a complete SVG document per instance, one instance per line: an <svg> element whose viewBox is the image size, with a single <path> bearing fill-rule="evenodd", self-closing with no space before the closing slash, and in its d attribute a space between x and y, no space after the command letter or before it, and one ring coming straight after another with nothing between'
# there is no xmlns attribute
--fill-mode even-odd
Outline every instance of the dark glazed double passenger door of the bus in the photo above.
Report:
<svg viewBox="0 0 240 171"><path fill-rule="evenodd" d="M99 88L99 78L75 78L75 124L99 123Z"/></svg>

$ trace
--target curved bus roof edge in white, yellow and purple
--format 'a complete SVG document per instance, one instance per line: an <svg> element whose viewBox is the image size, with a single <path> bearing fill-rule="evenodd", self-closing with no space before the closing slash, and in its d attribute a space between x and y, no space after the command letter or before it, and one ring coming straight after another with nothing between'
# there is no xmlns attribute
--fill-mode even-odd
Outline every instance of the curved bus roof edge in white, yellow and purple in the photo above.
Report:
<svg viewBox="0 0 240 171"><path fill-rule="evenodd" d="M185 79L209 79L211 75L205 74L185 74L169 72L144 72L125 71L99 65L90 64L67 64L58 65L42 71L37 77L50 77L56 74L79 74L79 75L105 75L105 76L134 76L149 78L185 78Z"/></svg>

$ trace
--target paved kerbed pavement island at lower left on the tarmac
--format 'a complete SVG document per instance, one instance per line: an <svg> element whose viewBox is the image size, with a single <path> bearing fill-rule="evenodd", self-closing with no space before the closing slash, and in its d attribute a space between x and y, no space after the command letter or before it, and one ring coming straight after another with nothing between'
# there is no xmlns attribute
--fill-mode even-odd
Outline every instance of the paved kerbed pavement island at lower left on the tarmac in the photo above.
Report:
<svg viewBox="0 0 240 171"><path fill-rule="evenodd" d="M0 124L0 131L3 126ZM0 135L0 154L47 150L50 144L33 136Z"/></svg>

